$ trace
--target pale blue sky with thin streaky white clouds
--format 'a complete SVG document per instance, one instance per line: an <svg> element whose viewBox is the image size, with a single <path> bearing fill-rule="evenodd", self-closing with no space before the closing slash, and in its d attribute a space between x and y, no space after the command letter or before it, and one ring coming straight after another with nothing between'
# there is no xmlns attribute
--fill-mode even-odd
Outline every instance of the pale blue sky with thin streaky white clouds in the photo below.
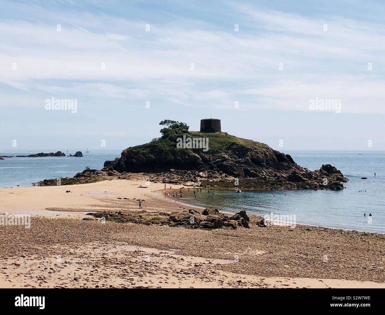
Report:
<svg viewBox="0 0 385 315"><path fill-rule="evenodd" d="M385 150L381 1L0 7L0 153L122 150L203 118L281 152Z"/></svg>

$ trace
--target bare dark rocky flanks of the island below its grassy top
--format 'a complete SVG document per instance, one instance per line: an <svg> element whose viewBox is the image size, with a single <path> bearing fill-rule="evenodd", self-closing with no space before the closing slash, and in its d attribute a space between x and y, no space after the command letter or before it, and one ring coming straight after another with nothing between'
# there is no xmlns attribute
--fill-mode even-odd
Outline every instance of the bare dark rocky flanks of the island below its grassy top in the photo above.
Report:
<svg viewBox="0 0 385 315"><path fill-rule="evenodd" d="M194 133L196 135L197 133ZM198 133L199 134L199 133ZM210 134L206 134L210 140ZM293 158L263 143L215 134L216 150L187 150L172 147L151 150L152 143L130 147L120 158L106 161L106 172L152 173L155 182L193 183L197 186L243 189L331 189L341 190L348 179L330 164L310 171ZM232 140L226 145L223 142ZM219 140L218 140L219 138ZM172 145L169 145L170 147ZM220 147L223 146L223 147ZM218 149L219 147L219 149Z"/></svg>

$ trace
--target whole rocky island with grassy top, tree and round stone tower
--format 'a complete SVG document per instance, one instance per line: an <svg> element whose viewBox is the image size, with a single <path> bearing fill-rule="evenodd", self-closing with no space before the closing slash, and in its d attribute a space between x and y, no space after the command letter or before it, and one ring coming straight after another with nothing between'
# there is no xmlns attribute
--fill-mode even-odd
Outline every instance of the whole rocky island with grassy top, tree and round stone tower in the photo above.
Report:
<svg viewBox="0 0 385 315"><path fill-rule="evenodd" d="M343 183L348 182L330 164L311 171L264 143L223 133L218 120L202 120L200 132L189 131L185 123L172 120L160 125L165 126L160 138L129 147L120 158L106 161L102 170L86 169L73 178L65 178L62 185L114 177L130 179L132 174L158 183L262 190L341 190ZM52 179L39 185L55 183Z"/></svg>

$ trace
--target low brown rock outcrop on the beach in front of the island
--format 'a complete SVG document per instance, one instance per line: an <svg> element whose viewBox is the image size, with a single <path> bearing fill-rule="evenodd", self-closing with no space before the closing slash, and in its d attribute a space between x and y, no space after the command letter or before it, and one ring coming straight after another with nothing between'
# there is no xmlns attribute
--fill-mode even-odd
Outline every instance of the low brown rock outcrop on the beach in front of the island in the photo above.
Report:
<svg viewBox="0 0 385 315"><path fill-rule="evenodd" d="M147 212L142 211L116 211L89 213L97 218L104 217L106 221L119 223L139 223L144 225L168 225L170 227L186 228L228 228L235 230L237 227L249 228L250 218L245 211L235 215L225 215L214 208L206 208L202 213L190 209L180 212ZM252 216L253 218L255 216ZM258 220L257 220L258 221ZM252 221L254 222L254 221Z"/></svg>

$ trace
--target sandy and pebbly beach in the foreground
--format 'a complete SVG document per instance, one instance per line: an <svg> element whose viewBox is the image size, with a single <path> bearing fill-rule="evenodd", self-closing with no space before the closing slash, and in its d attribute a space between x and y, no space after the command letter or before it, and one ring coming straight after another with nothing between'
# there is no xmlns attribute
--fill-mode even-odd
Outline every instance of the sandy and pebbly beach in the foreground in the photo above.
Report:
<svg viewBox="0 0 385 315"><path fill-rule="evenodd" d="M83 220L93 218L87 212L137 210L139 199L146 211L194 208L165 198L164 184L139 185L144 181L1 188L0 213L31 215L31 222L0 226L0 287L385 288L384 235Z"/></svg>

